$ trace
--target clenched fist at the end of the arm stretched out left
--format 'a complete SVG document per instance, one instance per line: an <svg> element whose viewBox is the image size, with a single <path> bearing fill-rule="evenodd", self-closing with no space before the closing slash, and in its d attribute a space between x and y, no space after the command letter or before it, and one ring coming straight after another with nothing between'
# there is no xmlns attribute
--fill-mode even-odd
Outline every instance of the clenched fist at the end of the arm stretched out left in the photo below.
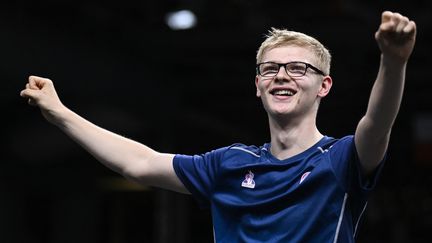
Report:
<svg viewBox="0 0 432 243"><path fill-rule="evenodd" d="M53 82L47 78L30 76L26 88L20 95L28 98L30 105L38 106L43 116L51 123L55 122L56 114L64 108Z"/></svg>

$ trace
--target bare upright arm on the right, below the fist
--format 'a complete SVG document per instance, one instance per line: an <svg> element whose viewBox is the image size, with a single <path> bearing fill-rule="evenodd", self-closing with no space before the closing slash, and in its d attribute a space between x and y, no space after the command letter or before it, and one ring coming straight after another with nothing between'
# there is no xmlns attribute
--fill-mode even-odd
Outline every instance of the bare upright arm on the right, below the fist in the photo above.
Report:
<svg viewBox="0 0 432 243"><path fill-rule="evenodd" d="M381 57L365 116L356 130L356 148L364 175L370 175L387 150L402 100L406 62Z"/></svg>

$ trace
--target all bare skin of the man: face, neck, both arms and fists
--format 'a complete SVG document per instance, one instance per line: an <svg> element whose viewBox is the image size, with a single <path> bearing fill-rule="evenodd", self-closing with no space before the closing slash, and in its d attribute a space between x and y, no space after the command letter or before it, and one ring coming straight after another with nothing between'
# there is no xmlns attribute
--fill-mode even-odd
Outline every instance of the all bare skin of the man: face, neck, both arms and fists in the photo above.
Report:
<svg viewBox="0 0 432 243"><path fill-rule="evenodd" d="M381 49L381 64L373 86L365 116L355 131L355 143L368 175L382 160L390 132L399 110L408 58L415 43L415 23L392 12L384 12L375 34ZM307 49L286 46L264 53L265 61L305 61L316 64ZM303 152L322 134L316 127L316 114L321 98L331 89L329 76L308 71L305 77L292 79L279 70L274 79L256 77L257 96L268 112L271 152L284 159ZM274 97L273 87L289 87L296 91L290 98ZM60 128L97 160L112 170L139 183L189 193L176 176L173 154L157 152L143 144L87 121L60 101L50 79L30 76L20 94L30 105L40 108L42 115Z"/></svg>

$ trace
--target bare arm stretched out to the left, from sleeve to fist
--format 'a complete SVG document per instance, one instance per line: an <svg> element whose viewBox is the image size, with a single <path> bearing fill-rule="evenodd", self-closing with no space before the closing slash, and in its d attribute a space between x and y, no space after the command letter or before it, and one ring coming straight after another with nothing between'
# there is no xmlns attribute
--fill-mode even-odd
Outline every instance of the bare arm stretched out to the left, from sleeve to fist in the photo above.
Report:
<svg viewBox="0 0 432 243"><path fill-rule="evenodd" d="M108 168L141 184L188 193L174 172L174 155L156 152L82 118L62 104L51 80L30 76L21 96Z"/></svg>

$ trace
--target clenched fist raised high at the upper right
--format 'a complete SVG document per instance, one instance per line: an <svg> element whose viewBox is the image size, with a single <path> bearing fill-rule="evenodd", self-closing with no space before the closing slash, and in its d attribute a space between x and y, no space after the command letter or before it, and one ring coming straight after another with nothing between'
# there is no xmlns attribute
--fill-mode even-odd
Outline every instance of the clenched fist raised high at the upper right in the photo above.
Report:
<svg viewBox="0 0 432 243"><path fill-rule="evenodd" d="M384 11L375 39L384 56L406 62L414 48L416 24L399 13Z"/></svg>

